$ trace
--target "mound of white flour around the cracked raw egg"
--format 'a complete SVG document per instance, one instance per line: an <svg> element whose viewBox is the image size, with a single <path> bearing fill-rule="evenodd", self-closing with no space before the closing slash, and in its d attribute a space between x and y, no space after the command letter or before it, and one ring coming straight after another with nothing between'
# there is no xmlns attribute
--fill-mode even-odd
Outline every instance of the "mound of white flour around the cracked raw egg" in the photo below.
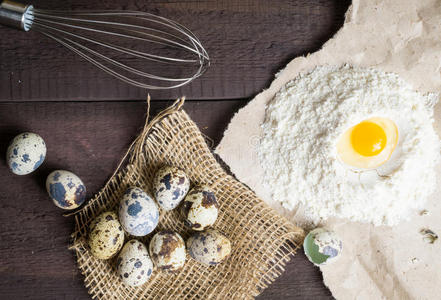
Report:
<svg viewBox="0 0 441 300"><path fill-rule="evenodd" d="M375 225L408 219L435 188L437 99L412 90L395 74L317 67L268 104L258 150L264 183L274 200L289 210L303 206L313 223L332 216ZM336 142L370 117L393 120L399 143L385 165L355 173L337 160Z"/></svg>

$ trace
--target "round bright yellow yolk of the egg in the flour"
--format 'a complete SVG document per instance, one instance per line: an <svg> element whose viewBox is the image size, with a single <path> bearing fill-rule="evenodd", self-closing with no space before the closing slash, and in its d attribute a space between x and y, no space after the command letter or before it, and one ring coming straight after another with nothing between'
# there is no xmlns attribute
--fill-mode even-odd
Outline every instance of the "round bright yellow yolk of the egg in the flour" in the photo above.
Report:
<svg viewBox="0 0 441 300"><path fill-rule="evenodd" d="M354 150L363 156L374 156L386 147L387 137L383 128L373 122L364 121L354 126L351 132L351 144Z"/></svg>

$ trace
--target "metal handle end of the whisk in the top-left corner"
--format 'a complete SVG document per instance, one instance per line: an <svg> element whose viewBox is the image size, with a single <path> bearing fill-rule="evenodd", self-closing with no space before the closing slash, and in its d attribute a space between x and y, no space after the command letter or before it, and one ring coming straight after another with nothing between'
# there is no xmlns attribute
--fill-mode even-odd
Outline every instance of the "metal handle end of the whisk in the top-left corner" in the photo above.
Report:
<svg viewBox="0 0 441 300"><path fill-rule="evenodd" d="M34 7L5 0L0 4L0 24L29 31L34 22Z"/></svg>

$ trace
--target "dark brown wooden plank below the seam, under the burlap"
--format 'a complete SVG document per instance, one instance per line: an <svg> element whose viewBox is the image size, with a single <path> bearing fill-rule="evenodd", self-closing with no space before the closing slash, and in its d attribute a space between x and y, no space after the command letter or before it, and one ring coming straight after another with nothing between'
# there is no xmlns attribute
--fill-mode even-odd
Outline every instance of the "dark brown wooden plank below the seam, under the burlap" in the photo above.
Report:
<svg viewBox="0 0 441 300"><path fill-rule="evenodd" d="M170 101L152 104L152 112ZM186 111L217 144L243 101L190 101ZM67 249L73 218L49 200L46 176L54 169L79 175L90 198L112 174L143 126L145 104L0 103L0 295L2 299L88 299L73 252ZM34 131L48 145L47 159L28 176L5 164L9 141ZM213 146L214 146L213 144ZM259 299L329 299L318 268L299 253Z"/></svg>

